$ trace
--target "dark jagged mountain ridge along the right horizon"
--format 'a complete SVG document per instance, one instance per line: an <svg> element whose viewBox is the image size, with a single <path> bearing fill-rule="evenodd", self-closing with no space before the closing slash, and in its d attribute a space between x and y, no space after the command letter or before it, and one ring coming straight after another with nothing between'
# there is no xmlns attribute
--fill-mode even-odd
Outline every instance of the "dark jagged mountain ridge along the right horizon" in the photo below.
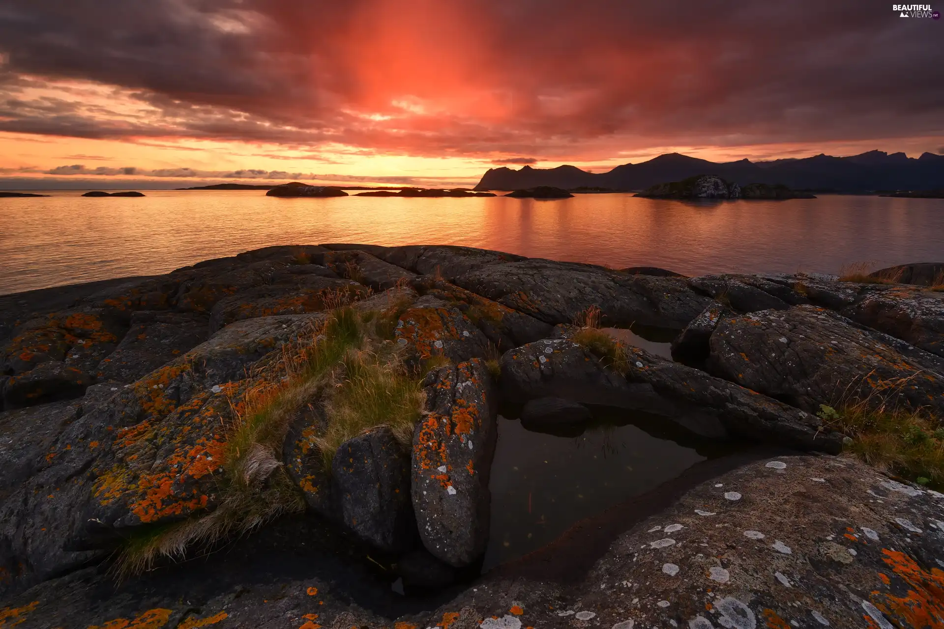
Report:
<svg viewBox="0 0 944 629"><path fill-rule="evenodd" d="M868 151L851 157L818 155L803 159L749 159L716 163L698 157L669 153L638 164L616 166L609 173L587 173L576 166L539 169L525 166L514 171L492 168L482 175L475 190L522 190L553 186L643 190L667 181L698 174L716 174L742 186L752 183L784 184L794 190L871 192L875 190L932 190L944 188L944 156L924 153L907 157Z"/></svg>

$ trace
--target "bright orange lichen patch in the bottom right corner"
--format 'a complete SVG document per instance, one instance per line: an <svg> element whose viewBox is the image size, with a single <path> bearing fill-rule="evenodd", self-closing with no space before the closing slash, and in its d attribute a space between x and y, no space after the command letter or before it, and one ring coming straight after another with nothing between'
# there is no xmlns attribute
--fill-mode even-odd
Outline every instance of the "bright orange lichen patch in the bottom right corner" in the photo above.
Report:
<svg viewBox="0 0 944 629"><path fill-rule="evenodd" d="M873 594L873 603L889 617L911 627L944 627L944 571L924 571L901 551L882 549L883 560L908 587L898 597L891 593ZM881 573L880 573L881 574Z"/></svg>

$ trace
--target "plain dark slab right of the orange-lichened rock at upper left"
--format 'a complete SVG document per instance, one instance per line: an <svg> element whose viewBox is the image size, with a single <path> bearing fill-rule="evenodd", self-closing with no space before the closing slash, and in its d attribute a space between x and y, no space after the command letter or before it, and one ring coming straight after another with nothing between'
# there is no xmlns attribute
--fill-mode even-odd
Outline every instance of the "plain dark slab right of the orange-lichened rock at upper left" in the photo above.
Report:
<svg viewBox="0 0 944 629"><path fill-rule="evenodd" d="M131 328L95 370L98 380L130 383L207 339L205 315L162 310L139 310Z"/></svg>

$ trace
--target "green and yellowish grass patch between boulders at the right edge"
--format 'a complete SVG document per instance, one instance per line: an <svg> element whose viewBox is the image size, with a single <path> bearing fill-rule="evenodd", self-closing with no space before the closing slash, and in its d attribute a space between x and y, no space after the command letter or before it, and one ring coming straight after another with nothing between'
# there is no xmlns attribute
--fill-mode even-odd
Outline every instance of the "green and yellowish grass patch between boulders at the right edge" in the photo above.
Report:
<svg viewBox="0 0 944 629"><path fill-rule="evenodd" d="M906 409L821 406L827 426L852 439L846 451L902 478L944 488L944 428L936 418Z"/></svg>

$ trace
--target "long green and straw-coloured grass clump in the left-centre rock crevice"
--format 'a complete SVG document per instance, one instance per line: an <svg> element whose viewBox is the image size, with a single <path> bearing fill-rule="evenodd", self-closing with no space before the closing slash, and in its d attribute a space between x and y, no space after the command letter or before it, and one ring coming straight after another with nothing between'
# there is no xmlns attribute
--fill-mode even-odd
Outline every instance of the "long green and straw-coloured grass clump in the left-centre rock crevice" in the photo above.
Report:
<svg viewBox="0 0 944 629"><path fill-rule="evenodd" d="M423 402L418 374L404 367L394 343L379 336L401 308L332 310L304 339L284 346L264 372L251 374L256 384L231 404L217 507L202 517L135 531L113 570L120 576L140 573L160 556L182 558L197 545L209 551L224 538L304 510L304 498L280 457L289 422L312 398L328 410L328 428L315 443L326 470L342 443L379 425L409 443Z"/></svg>

